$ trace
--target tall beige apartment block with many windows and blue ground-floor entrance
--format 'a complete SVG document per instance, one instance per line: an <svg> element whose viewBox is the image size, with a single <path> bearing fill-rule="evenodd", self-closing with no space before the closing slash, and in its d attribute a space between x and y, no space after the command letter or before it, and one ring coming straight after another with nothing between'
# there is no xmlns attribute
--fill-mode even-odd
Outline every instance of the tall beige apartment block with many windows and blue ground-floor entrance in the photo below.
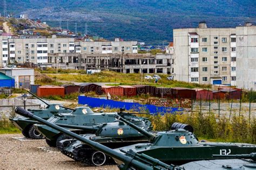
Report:
<svg viewBox="0 0 256 170"><path fill-rule="evenodd" d="M174 80L200 84L236 85L234 28L174 29Z"/></svg>

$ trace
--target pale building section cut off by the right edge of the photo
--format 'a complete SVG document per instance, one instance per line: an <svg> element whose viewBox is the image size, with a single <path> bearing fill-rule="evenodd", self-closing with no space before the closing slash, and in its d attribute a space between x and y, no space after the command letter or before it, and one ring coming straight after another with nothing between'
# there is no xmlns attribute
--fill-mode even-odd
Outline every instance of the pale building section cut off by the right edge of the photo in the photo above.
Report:
<svg viewBox="0 0 256 170"><path fill-rule="evenodd" d="M237 86L256 90L256 26L246 23L236 27Z"/></svg>

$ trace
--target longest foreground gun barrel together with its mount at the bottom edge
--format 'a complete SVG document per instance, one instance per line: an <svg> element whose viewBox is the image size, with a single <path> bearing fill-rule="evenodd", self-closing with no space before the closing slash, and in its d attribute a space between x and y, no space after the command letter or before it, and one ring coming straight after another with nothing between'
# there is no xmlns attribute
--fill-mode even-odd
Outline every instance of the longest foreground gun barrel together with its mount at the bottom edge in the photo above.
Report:
<svg viewBox="0 0 256 170"><path fill-rule="evenodd" d="M112 150L112 148L109 148L107 146L104 146L102 144L99 144L95 141L86 139L79 134L73 133L72 131L66 130L65 128L62 128L56 124L53 124L51 122L45 121L44 119L35 116L31 114L31 112L21 108L17 107L15 109L15 112L19 115L35 119L36 121L48 125L52 129L55 129L57 131L60 131L72 138L75 138L79 141L82 141L86 145L91 146L92 148L95 148L95 150L99 152L103 152L106 155L109 155L112 157L114 160L118 160L118 162L122 162L118 167L119 169L147 169L147 170L153 170L153 169L183 169L174 165L167 165L164 162L161 162L157 159L154 159L152 157L149 157L148 155L145 154L138 154L130 151L129 153L126 154L121 154L115 150Z"/></svg>

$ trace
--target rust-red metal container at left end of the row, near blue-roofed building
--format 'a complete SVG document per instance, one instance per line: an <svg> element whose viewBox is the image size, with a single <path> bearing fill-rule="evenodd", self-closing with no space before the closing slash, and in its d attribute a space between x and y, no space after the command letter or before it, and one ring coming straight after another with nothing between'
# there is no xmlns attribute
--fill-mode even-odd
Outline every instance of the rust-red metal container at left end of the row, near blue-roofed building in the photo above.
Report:
<svg viewBox="0 0 256 170"><path fill-rule="evenodd" d="M59 86L41 86L37 88L37 96L44 97L44 96L62 96L65 95L65 88Z"/></svg>

